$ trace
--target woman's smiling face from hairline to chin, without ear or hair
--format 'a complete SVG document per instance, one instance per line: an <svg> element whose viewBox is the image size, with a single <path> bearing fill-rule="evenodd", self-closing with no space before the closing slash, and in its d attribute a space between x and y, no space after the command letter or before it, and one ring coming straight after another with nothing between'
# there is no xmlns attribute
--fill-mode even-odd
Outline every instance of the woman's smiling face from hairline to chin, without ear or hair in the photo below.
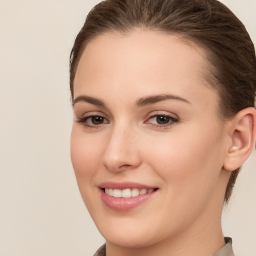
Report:
<svg viewBox="0 0 256 256"><path fill-rule="evenodd" d="M201 53L174 35L134 30L102 34L81 56L71 160L109 243L141 247L220 221L227 132Z"/></svg>

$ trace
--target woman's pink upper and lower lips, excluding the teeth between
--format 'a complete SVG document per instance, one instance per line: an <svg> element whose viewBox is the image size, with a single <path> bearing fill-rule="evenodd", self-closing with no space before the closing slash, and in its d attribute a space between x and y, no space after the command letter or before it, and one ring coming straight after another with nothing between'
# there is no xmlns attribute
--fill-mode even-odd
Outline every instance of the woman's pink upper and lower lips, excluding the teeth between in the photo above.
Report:
<svg viewBox="0 0 256 256"><path fill-rule="evenodd" d="M158 189L154 190L151 193L140 194L134 197L113 197L104 192L103 188L113 188L113 189L125 189L125 188L155 188L152 186L147 186L144 184L136 183L136 182L103 182L100 183L98 186L101 199L103 203L108 207L116 211L127 211L138 205L142 204L143 202L147 201L153 194L157 192Z"/></svg>

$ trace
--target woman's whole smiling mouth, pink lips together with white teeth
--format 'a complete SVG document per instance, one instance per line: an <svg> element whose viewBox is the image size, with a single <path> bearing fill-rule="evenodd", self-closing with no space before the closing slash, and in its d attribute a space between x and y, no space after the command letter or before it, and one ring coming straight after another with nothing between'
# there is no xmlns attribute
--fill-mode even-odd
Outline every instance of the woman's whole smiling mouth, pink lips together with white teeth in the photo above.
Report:
<svg viewBox="0 0 256 256"><path fill-rule="evenodd" d="M104 182L99 185L103 203L116 211L131 210L151 198L158 190L134 182Z"/></svg>

